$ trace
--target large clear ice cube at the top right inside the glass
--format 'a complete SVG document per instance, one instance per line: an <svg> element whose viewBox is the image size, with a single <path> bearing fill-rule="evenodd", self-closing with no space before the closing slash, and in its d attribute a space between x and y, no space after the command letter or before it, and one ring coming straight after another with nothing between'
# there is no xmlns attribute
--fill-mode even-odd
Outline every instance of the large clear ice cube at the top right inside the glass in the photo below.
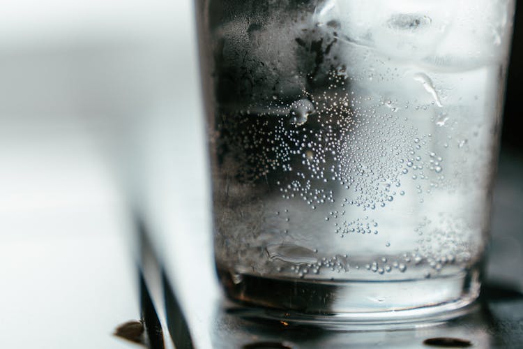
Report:
<svg viewBox="0 0 523 349"><path fill-rule="evenodd" d="M500 61L513 10L513 0L328 0L317 7L315 20L340 41L385 57L462 70Z"/></svg>

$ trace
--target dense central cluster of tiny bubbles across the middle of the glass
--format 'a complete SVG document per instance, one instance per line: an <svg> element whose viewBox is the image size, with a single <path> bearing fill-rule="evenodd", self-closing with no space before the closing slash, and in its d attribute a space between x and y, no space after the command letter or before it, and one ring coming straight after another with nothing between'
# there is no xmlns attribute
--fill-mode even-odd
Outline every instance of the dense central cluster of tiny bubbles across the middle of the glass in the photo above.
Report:
<svg viewBox="0 0 523 349"><path fill-rule="evenodd" d="M413 167L414 156L404 157L409 150L414 153L416 144L404 140L416 142L416 130L402 126L397 114L384 112L386 101L373 103L339 89L344 80L336 72L330 78L326 91L304 91L306 98L292 103L276 100L264 110L224 114L222 147L242 164L237 179L270 183L273 173L282 198L298 196L311 209L335 201L333 186L345 190L342 207L384 207L400 194L396 188L402 176L423 169L421 163ZM423 172L412 175L425 177Z"/></svg>

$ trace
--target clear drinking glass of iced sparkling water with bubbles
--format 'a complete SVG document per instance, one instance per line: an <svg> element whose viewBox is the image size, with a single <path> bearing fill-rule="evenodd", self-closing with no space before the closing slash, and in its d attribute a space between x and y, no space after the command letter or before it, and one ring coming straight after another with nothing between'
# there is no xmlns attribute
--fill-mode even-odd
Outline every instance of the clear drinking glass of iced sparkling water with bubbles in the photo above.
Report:
<svg viewBox="0 0 523 349"><path fill-rule="evenodd" d="M513 0L198 0L227 296L324 325L460 315L488 239Z"/></svg>

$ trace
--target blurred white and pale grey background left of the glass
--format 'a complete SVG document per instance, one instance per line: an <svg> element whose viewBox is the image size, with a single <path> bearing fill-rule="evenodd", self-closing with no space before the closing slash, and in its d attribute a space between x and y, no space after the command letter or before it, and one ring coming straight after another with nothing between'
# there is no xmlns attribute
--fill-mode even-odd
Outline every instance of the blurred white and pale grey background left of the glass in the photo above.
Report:
<svg viewBox="0 0 523 349"><path fill-rule="evenodd" d="M2 1L2 348L135 346L111 336L139 318L129 198L167 269L212 279L193 20L190 0Z"/></svg>

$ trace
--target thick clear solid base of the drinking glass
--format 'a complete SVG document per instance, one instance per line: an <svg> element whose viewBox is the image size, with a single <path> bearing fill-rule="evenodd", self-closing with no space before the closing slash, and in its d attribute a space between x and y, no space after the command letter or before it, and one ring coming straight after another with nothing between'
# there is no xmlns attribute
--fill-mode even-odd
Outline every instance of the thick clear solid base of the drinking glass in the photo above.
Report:
<svg viewBox="0 0 523 349"><path fill-rule="evenodd" d="M477 267L402 281L269 279L220 269L218 274L243 317L331 329L435 325L468 313L480 290Z"/></svg>

